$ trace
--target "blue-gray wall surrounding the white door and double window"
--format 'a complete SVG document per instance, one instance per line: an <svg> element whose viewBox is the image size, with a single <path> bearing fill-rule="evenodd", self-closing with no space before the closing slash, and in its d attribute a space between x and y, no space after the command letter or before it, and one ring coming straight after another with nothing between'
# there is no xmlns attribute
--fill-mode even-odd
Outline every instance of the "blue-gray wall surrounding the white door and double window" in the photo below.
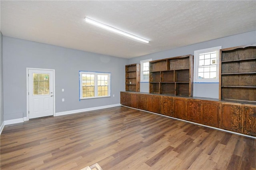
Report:
<svg viewBox="0 0 256 170"><path fill-rule="evenodd" d="M58 113L120 103L127 63L128 59L119 57L3 36L4 120L26 117L26 67L55 69ZM80 70L112 73L111 95L115 97L79 101Z"/></svg>

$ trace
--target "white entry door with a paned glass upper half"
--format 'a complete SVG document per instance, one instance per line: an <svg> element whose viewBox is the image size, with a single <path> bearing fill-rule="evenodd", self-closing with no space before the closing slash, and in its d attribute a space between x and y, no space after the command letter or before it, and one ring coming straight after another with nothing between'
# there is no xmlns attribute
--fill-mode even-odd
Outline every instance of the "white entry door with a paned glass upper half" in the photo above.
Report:
<svg viewBox="0 0 256 170"><path fill-rule="evenodd" d="M51 70L28 70L29 119L53 115L53 78Z"/></svg>

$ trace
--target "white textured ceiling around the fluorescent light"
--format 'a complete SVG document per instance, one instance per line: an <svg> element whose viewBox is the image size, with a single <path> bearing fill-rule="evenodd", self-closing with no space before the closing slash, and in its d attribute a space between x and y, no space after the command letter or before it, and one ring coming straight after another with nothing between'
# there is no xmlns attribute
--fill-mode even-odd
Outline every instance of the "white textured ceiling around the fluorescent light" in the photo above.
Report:
<svg viewBox="0 0 256 170"><path fill-rule="evenodd" d="M256 30L256 1L5 1L4 36L132 58ZM140 36L140 43L84 22Z"/></svg>

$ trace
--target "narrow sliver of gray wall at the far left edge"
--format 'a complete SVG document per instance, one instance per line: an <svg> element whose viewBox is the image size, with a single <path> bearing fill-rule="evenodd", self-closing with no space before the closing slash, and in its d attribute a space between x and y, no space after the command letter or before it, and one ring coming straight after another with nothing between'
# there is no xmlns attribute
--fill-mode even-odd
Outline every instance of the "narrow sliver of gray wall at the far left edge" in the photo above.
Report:
<svg viewBox="0 0 256 170"><path fill-rule="evenodd" d="M4 100L3 100L3 36L0 32L0 126L4 122Z"/></svg>

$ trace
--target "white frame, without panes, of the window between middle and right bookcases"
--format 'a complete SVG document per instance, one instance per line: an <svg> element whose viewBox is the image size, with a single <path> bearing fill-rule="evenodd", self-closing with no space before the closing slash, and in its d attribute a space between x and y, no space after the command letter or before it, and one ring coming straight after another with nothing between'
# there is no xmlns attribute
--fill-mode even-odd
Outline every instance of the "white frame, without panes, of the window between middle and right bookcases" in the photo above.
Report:
<svg viewBox="0 0 256 170"><path fill-rule="evenodd" d="M219 61L221 46L194 51L194 83L219 83ZM216 78L198 79L199 55L216 51Z"/></svg>

